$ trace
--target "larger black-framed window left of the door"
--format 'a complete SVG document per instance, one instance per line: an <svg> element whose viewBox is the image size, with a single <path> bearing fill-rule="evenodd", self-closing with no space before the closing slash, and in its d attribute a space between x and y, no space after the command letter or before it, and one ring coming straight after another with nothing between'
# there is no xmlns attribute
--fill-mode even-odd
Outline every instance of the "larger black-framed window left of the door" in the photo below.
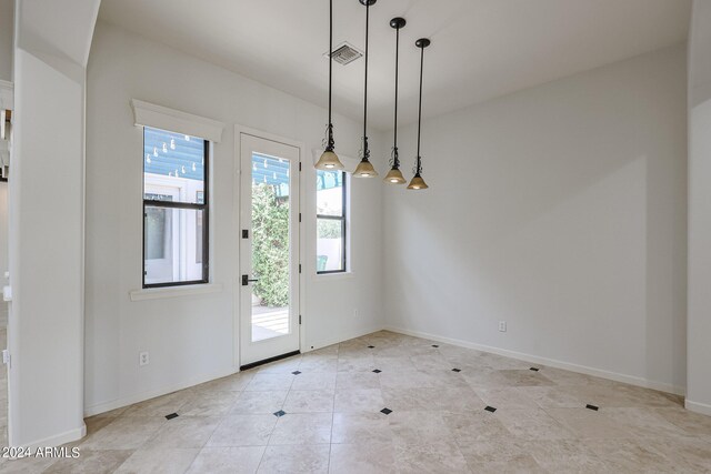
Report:
<svg viewBox="0 0 711 474"><path fill-rule="evenodd" d="M143 288L208 282L209 150L143 128Z"/></svg>

